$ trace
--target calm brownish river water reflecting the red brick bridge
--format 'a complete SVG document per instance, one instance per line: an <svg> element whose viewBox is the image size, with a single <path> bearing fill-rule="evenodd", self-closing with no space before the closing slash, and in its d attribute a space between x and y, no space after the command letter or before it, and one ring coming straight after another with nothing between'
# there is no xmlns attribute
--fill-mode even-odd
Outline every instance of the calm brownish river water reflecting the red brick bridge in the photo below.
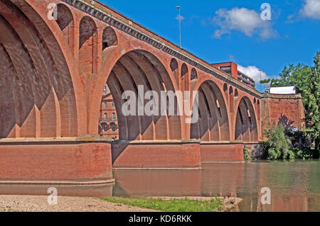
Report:
<svg viewBox="0 0 320 226"><path fill-rule="evenodd" d="M202 170L114 171L115 184L55 186L60 196L233 196L231 211L320 211L320 161L203 164ZM0 194L47 195L49 186L0 185ZM260 201L270 188L271 204Z"/></svg>

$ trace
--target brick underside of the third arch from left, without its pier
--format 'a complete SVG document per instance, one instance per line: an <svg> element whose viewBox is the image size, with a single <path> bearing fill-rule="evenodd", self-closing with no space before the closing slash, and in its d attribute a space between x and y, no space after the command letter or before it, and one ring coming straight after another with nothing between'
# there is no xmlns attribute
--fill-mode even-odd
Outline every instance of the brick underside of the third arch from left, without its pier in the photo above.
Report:
<svg viewBox="0 0 320 226"><path fill-rule="evenodd" d="M204 81L198 88L198 98L199 120L191 124L191 139L229 141L228 110L218 85L211 80Z"/></svg>

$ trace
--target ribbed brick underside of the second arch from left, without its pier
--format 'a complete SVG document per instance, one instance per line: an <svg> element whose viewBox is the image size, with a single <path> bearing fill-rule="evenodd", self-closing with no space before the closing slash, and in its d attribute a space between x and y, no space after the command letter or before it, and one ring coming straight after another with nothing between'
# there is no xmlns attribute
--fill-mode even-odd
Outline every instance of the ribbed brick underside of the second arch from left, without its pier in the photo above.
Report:
<svg viewBox="0 0 320 226"><path fill-rule="evenodd" d="M174 85L164 65L150 52L134 50L123 55L114 65L107 85L117 110L119 140L181 140L181 118L177 115L177 101L175 100L174 115L169 115L169 104L164 108L164 113L161 113L161 92L175 92ZM125 91L132 91L135 98L126 96L122 99ZM148 96L150 91L154 91L156 95ZM135 100L132 102L130 98ZM152 107L151 100L159 103L159 109ZM122 106L127 101L137 106L129 116L122 112ZM142 103L142 108L150 109L154 115L139 115L139 102Z"/></svg>

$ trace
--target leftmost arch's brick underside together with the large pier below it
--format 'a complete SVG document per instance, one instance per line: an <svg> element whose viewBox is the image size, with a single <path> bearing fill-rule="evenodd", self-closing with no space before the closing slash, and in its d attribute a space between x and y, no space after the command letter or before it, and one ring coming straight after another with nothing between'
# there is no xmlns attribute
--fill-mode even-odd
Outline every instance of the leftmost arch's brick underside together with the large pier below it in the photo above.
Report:
<svg viewBox="0 0 320 226"><path fill-rule="evenodd" d="M78 135L73 78L56 33L27 0L0 1L0 30L0 183L114 181L110 144L56 139ZM28 139L12 139L20 137Z"/></svg>

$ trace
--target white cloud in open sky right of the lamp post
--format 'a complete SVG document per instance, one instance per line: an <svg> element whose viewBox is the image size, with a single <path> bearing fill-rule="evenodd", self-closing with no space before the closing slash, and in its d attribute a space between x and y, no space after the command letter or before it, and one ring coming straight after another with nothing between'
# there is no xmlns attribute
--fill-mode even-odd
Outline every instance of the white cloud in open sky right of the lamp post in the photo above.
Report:
<svg viewBox="0 0 320 226"><path fill-rule="evenodd" d="M221 38L231 30L238 30L251 37L257 34L262 39L273 38L277 36L277 31L272 28L270 21L263 21L260 13L246 8L233 8L230 10L219 9L215 12L212 22L220 29L215 30L214 37Z"/></svg>

